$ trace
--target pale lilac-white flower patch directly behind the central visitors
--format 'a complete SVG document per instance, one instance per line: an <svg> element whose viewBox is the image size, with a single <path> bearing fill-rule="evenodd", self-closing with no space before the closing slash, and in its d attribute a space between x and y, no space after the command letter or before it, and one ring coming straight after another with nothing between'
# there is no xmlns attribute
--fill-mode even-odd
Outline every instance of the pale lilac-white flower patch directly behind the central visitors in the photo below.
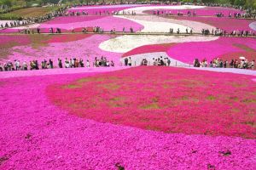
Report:
<svg viewBox="0 0 256 170"><path fill-rule="evenodd" d="M131 65L132 66L138 66L141 65L141 62L143 59L148 60L148 65L154 64L154 59L158 59L162 57L162 59L168 58L171 60L170 66L189 66L189 64L183 63L177 59L172 59L166 54L166 52L156 52L156 53L147 53L147 54L136 54L136 55L130 55L125 58L131 57ZM125 58L120 59L121 63L125 63Z"/></svg>

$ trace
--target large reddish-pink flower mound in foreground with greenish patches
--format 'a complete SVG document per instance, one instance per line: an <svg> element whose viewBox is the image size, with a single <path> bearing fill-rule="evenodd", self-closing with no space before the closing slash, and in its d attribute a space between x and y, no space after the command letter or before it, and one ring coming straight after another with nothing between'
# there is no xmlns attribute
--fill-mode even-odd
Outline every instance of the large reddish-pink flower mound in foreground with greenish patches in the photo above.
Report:
<svg viewBox="0 0 256 170"><path fill-rule="evenodd" d="M214 78L212 78L214 77ZM253 77L137 67L55 84L47 94L78 116L165 133L255 139Z"/></svg>

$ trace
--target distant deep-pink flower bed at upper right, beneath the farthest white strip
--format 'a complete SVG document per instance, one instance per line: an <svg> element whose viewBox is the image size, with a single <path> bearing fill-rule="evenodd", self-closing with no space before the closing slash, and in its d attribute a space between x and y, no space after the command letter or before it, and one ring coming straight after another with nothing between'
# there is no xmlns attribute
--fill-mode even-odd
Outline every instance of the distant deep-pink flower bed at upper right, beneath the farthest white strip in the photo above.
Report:
<svg viewBox="0 0 256 170"><path fill-rule="evenodd" d="M206 7L206 8L195 8L195 9L154 9L154 10L148 10L145 11L145 13L147 14L154 14L154 12L159 11L160 14L177 14L179 13L183 13L183 15L187 15L188 12L191 12L191 15L193 14L193 12L195 11L195 14L197 16L215 16L218 13L222 13L224 14L225 17L229 16L229 14L231 13L232 16L234 16L233 14L235 13L240 13L243 14L244 12L236 9L236 8L222 8L222 7Z"/></svg>

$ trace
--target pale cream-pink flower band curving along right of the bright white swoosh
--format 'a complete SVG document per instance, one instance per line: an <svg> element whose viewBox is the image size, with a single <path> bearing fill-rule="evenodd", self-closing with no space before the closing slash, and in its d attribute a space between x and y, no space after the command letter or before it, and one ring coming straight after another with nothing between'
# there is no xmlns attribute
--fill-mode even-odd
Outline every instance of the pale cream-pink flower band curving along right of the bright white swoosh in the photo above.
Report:
<svg viewBox="0 0 256 170"><path fill-rule="evenodd" d="M214 26L210 26L210 25L207 25L207 24L204 24L201 22L197 22L197 21L175 20L175 19L163 18L163 17L156 16L156 15L125 15L125 19L134 20L136 22L138 22L138 20L146 20L146 21L151 21L154 23L155 22L166 22L166 23L172 24L172 28L174 29L174 31L176 31L175 26L185 26L186 28L188 27L190 29L192 28L193 32L199 32L199 33L201 33L202 29L209 29L209 30L215 29ZM190 29L189 29L189 31L190 31ZM181 32L185 32L185 31L181 31Z"/></svg>

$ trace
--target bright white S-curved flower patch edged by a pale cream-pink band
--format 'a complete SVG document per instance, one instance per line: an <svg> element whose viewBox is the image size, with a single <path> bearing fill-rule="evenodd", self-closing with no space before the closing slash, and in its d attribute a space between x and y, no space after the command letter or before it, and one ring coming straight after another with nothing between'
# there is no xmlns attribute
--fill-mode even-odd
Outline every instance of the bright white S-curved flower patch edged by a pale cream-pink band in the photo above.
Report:
<svg viewBox="0 0 256 170"><path fill-rule="evenodd" d="M143 25L144 28L143 30L141 30L141 32L165 32L166 33L170 31L170 28L172 28L174 31L177 31L177 29L179 29L180 32L186 32L186 29L188 28L187 26L182 26L182 25L170 23L170 22L137 20L137 19L132 19L125 16L120 16L120 15L115 15L114 17L131 20L131 21L137 22L140 25ZM151 17L154 18L153 16ZM190 30L190 28L188 29Z"/></svg>

